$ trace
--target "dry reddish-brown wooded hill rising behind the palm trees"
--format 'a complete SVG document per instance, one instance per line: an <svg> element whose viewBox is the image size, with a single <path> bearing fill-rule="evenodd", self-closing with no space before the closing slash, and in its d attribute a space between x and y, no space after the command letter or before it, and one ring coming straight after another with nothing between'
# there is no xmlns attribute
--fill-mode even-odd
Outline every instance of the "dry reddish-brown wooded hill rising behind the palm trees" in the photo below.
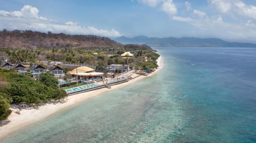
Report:
<svg viewBox="0 0 256 143"><path fill-rule="evenodd" d="M0 32L0 47L9 49L36 49L36 48L64 48L64 47L109 47L125 48L133 47L135 50L152 50L146 45L123 45L110 38L95 35L67 35L51 32L41 33L33 31L7 31Z"/></svg>

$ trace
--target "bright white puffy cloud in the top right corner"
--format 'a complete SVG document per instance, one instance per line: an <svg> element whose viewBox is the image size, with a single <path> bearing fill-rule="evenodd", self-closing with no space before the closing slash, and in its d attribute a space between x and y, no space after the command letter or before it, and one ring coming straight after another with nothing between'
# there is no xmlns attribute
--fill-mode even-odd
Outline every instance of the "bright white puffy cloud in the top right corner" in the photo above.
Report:
<svg viewBox="0 0 256 143"><path fill-rule="evenodd" d="M252 6L252 5L248 6L243 2L237 2L237 3L235 3L235 5L238 7L239 12L242 15L256 19L256 7L255 6Z"/></svg>

